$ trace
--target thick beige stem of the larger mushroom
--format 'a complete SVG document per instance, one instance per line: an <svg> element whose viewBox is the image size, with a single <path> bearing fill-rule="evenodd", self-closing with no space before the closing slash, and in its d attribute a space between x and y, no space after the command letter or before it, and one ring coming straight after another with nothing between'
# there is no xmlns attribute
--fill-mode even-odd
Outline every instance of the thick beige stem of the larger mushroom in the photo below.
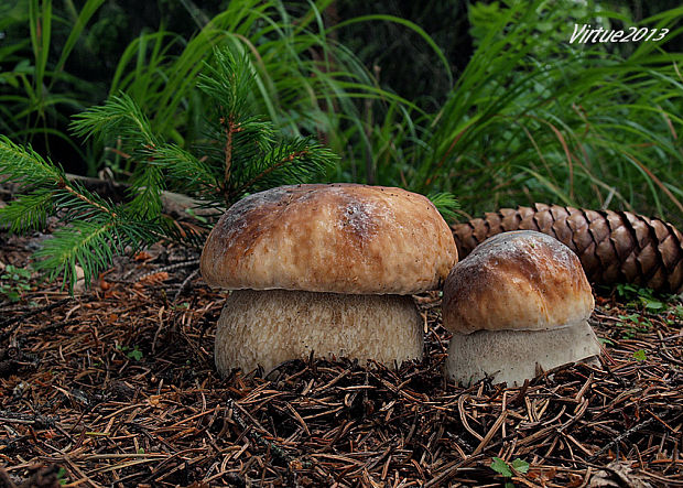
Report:
<svg viewBox="0 0 683 488"><path fill-rule="evenodd" d="M215 359L224 376L258 366L268 372L312 351L392 367L422 359L422 341L411 296L239 290L218 319Z"/></svg>

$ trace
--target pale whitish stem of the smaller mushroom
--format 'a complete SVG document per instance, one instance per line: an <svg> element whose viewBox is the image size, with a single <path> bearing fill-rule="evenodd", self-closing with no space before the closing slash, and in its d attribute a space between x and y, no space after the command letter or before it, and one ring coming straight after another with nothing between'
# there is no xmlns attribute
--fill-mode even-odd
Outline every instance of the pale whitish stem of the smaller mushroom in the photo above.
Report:
<svg viewBox="0 0 683 488"><path fill-rule="evenodd" d="M586 322L551 330L479 330L453 335L445 370L464 386L492 376L494 383L513 387L534 378L536 365L548 371L599 354Z"/></svg>

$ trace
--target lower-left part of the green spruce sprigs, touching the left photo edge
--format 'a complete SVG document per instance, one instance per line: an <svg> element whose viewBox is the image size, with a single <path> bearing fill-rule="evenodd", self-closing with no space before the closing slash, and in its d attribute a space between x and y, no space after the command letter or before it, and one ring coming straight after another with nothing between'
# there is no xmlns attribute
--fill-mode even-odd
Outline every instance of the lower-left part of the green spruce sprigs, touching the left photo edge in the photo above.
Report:
<svg viewBox="0 0 683 488"><path fill-rule="evenodd" d="M131 218L126 208L68 181L62 167L7 138L0 138L0 174L24 192L0 209L0 224L9 224L11 231L42 228L47 216L59 210L66 225L34 253L35 268L51 280L63 275L71 291L76 265L94 276L110 264L116 250L138 249L159 238L159 226Z"/></svg>

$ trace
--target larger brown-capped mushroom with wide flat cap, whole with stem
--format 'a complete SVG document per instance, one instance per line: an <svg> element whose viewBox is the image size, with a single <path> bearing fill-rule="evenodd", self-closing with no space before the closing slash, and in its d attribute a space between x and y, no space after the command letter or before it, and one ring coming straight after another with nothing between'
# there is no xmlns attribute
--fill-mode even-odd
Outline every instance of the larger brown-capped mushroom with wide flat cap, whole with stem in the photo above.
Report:
<svg viewBox="0 0 683 488"><path fill-rule="evenodd" d="M456 261L448 226L422 195L356 184L250 195L202 253L206 282L232 290L216 332L218 371L269 371L312 351L389 366L420 359L410 295L441 286Z"/></svg>

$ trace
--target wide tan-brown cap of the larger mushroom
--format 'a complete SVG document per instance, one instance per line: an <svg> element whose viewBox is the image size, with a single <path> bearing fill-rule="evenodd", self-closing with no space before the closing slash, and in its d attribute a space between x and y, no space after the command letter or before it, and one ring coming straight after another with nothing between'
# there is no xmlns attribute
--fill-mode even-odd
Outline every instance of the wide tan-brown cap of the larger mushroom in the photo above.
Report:
<svg viewBox="0 0 683 488"><path fill-rule="evenodd" d="M232 205L204 246L202 274L232 290L412 294L440 288L455 262L453 234L422 195L293 185Z"/></svg>

